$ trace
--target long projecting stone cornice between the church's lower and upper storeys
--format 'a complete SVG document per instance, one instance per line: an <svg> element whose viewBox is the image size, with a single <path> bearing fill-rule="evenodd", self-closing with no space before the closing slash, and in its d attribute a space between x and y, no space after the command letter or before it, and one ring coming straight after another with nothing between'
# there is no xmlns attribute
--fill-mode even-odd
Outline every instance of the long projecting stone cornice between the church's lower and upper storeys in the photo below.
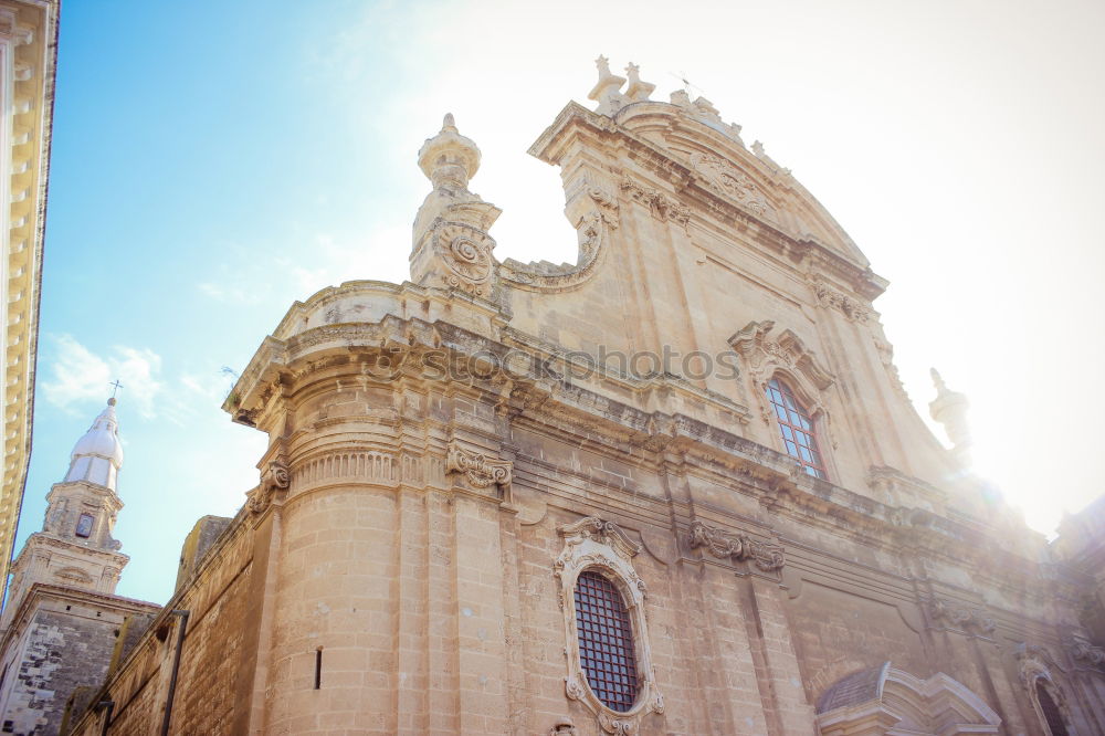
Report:
<svg viewBox="0 0 1105 736"><path fill-rule="evenodd" d="M790 458L703 419L677 411L671 414L644 411L600 395L586 385L572 382L555 371L550 374L548 357L540 353L534 354L539 341L524 339L525 336L516 332L502 332L503 338L511 340L509 345L444 322L427 324L388 315L379 323L335 324L308 329L286 343L269 338L239 381L244 393L236 399L234 410L239 412L239 417L255 419L276 396L270 390L274 386L273 380L294 383L299 376L320 370L326 365L322 356L328 354L332 345L333 349L338 350L334 358L337 361L334 364L336 368L348 364L350 348L368 355L382 349L417 351L432 347L456 356L475 353L504 356L513 349L515 353L512 357L516 359L511 365L499 366L494 377L473 387L480 391L492 391L497 397L496 401L503 401L499 396L503 388L494 386L509 385L505 406L514 417L528 416L552 429L565 424L568 416L565 412L570 410L576 412L572 421L587 424L599 422L604 435L624 435L627 440L652 452L676 449L691 456L704 453L715 461L743 469L741 472L761 477L764 483L777 491L789 493L794 502L790 505L794 509L801 509L801 515L806 517L812 515L823 518L834 526L843 524L848 528L883 530L907 540L916 549L924 549L940 558L955 554L970 559L978 557L978 550L985 548L987 558L991 560L1006 557L1010 560L1020 559L1002 551L992 539L988 540L990 535L986 530L925 509L892 507L870 496L811 479L797 472L797 465ZM519 348L523 355L518 355ZM391 355L398 357L400 354ZM260 380L262 375L271 378ZM383 377L382 380L394 380L400 375L407 374L400 370L396 376ZM278 379L280 376L286 378ZM420 379L417 372L408 377ZM252 381L252 386L248 380ZM678 385L675 377L657 377L655 380ZM648 383L642 382L641 386ZM690 389L687 391L690 395ZM228 404L230 403L231 400L228 399ZM736 408L722 401L714 403L727 411ZM608 417L617 417L618 420L613 422ZM568 432L578 431L567 424L565 429Z"/></svg>

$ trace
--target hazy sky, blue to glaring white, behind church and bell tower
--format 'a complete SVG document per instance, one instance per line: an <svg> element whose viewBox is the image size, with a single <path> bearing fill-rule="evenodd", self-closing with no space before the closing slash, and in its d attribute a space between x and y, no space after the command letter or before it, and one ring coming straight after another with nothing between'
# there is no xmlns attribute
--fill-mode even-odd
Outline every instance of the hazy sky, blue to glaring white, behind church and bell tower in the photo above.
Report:
<svg viewBox="0 0 1105 736"><path fill-rule="evenodd" d="M1072 419L1054 397L1105 374L1105 10L716 4L66 2L17 549L118 377L119 592L168 598L194 521L256 482L264 440L219 410L223 368L293 301L407 276L443 113L483 149L496 254L572 259L559 177L525 150L587 102L599 53L654 99L685 74L793 169L892 281L875 306L923 413L936 365L1034 527L1087 503L1105 399Z"/></svg>

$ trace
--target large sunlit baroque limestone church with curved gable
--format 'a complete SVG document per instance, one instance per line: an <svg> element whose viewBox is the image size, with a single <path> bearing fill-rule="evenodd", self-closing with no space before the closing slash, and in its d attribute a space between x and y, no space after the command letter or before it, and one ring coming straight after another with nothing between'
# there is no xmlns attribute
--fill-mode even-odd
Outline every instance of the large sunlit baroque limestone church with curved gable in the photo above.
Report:
<svg viewBox="0 0 1105 736"><path fill-rule="evenodd" d="M410 281L263 339L224 403L260 483L70 733L1105 733L1101 525L1056 550L996 500L964 398L936 377L948 450L906 397L843 229L627 72L529 151L575 264L495 257L446 116ZM115 507L82 483L53 493Z"/></svg>

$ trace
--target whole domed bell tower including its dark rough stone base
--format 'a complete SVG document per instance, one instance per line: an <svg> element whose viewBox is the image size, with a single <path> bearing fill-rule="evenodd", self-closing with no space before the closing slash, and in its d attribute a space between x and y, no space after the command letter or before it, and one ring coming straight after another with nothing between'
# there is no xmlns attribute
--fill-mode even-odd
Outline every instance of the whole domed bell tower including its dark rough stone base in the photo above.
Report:
<svg viewBox="0 0 1105 736"><path fill-rule="evenodd" d="M112 536L123 508L115 399L77 440L40 530L12 565L0 614L0 733L49 736L88 704L160 606L115 595L130 560ZM95 705L95 704L94 704Z"/></svg>

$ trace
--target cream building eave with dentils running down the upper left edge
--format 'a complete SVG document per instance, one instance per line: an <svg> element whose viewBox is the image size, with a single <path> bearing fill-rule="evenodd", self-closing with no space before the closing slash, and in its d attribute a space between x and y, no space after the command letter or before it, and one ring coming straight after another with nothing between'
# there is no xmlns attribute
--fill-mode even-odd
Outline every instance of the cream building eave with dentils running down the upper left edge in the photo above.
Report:
<svg viewBox="0 0 1105 736"><path fill-rule="evenodd" d="M57 0L0 0L0 595L31 456L59 7Z"/></svg>

